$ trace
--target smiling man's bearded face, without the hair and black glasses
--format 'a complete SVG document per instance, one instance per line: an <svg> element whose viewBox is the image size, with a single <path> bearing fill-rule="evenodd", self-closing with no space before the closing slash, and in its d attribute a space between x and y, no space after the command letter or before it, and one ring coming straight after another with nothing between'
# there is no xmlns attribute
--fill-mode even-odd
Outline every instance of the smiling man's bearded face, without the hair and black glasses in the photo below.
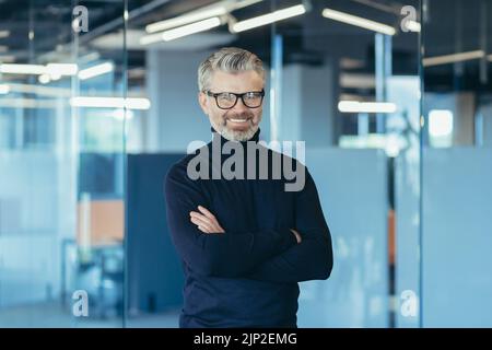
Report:
<svg viewBox="0 0 492 350"><path fill-rule="evenodd" d="M245 92L259 92L263 89L261 77L255 71L226 73L215 71L211 77L209 91L211 93L232 92L242 94ZM209 116L212 127L225 139L232 141L249 140L258 130L261 121L262 105L249 108L241 98L231 109L221 109L213 96L199 93L200 106Z"/></svg>

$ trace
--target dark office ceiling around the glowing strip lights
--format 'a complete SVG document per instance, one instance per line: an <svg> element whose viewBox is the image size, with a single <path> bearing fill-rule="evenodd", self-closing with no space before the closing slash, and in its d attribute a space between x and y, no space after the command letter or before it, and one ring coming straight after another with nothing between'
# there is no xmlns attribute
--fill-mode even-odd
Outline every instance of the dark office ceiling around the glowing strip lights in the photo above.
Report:
<svg viewBox="0 0 492 350"><path fill-rule="evenodd" d="M424 0L425 1L425 0ZM129 21L127 48L129 68L144 67L145 47L138 40L144 34L149 23L177 16L191 10L215 2L215 0L128 0ZM254 5L234 11L238 19L248 19L268 13L272 9L298 4L301 0L265 0ZM481 15L489 19L485 33L490 31L492 3L483 8L487 0L431 0L426 1L423 43L425 56L438 56L457 50L473 50L485 43L491 48L491 36L480 36L483 27ZM231 34L226 25L199 35L179 40L161 43L159 49L165 50L206 50L223 45L247 47L257 52L266 62L270 61L272 33L282 34L284 40L284 62L319 65L327 58L350 58L364 65L352 69L356 72L374 72L374 35L343 23L329 21L320 15L324 8L350 12L398 27L403 4L420 9L419 0L312 0L312 10L303 16L282 21L274 26L262 26L241 34ZM122 0L85 0L80 4L89 9L90 31L79 37L79 55L97 50L104 57L121 57L124 48ZM0 0L0 32L9 31L10 36L0 38L1 57L13 56L17 62L33 62L43 57L63 52L73 55L73 33L70 27L72 8L67 0ZM441 15L446 13L447 15ZM457 22L458 19L459 21ZM30 31L34 39L30 40ZM393 71L396 74L417 74L419 36L398 33L393 37ZM490 75L492 69L489 70ZM466 62L460 71L462 86L467 83L476 88L479 72L478 61ZM453 65L425 70L429 89L456 86L456 71ZM491 77L492 78L492 77ZM461 79L461 78L460 78ZM492 81L490 79L489 81Z"/></svg>

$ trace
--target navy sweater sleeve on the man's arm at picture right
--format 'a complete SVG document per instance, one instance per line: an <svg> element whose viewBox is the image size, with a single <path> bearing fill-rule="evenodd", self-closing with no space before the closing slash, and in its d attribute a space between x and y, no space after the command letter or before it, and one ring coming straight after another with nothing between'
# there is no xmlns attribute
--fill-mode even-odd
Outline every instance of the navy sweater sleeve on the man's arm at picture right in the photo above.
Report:
<svg viewBox="0 0 492 350"><path fill-rule="evenodd" d="M271 282L324 280L331 273L331 235L316 185L306 168L304 189L295 202L295 229L302 242L254 269L248 278Z"/></svg>

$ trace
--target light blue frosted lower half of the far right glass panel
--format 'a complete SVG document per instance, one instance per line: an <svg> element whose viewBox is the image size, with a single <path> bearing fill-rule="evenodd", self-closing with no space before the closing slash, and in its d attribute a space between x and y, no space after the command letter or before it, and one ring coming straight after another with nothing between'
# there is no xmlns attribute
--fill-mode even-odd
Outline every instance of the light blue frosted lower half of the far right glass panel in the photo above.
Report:
<svg viewBox="0 0 492 350"><path fill-rule="evenodd" d="M425 149L423 326L492 327L492 148Z"/></svg>

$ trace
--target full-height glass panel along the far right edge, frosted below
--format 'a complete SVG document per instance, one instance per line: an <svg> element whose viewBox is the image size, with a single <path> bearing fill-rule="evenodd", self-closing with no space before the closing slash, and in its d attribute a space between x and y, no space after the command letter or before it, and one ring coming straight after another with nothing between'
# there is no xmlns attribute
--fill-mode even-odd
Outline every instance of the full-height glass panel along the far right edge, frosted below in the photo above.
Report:
<svg viewBox="0 0 492 350"><path fill-rule="evenodd" d="M492 5L424 3L422 326L491 327Z"/></svg>

